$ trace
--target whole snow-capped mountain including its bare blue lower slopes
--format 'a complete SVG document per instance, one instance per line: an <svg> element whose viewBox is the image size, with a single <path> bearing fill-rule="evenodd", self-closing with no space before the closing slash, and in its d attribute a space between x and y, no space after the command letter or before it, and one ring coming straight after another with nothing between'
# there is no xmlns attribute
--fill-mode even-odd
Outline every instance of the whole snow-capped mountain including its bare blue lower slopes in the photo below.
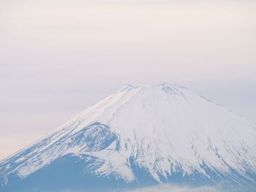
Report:
<svg viewBox="0 0 256 192"><path fill-rule="evenodd" d="M0 191L157 183L256 191L256 125L177 85L127 85L0 161Z"/></svg>

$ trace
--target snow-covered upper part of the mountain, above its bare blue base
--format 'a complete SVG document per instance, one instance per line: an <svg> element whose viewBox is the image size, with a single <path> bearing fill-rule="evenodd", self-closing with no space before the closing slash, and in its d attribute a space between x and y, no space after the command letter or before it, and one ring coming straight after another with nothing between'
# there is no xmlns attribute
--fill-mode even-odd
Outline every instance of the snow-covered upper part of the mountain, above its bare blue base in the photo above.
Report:
<svg viewBox="0 0 256 192"><path fill-rule="evenodd" d="M178 85L126 85L38 142L0 162L0 175L27 177L67 154L103 162L91 174L157 182L171 175L243 180L256 173L255 124ZM13 164L18 162L18 164ZM236 176L237 177L237 176ZM240 183L238 178L230 180ZM216 179L216 178L215 178ZM215 180L213 180L215 181ZM217 179L216 179L217 181Z"/></svg>

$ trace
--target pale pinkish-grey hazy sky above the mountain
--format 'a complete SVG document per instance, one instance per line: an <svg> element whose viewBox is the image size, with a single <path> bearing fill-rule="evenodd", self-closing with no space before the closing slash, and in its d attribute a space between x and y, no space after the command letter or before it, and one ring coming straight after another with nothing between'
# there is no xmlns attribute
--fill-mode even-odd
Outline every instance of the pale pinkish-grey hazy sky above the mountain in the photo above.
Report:
<svg viewBox="0 0 256 192"><path fill-rule="evenodd" d="M256 123L256 2L1 0L0 159L127 84Z"/></svg>

